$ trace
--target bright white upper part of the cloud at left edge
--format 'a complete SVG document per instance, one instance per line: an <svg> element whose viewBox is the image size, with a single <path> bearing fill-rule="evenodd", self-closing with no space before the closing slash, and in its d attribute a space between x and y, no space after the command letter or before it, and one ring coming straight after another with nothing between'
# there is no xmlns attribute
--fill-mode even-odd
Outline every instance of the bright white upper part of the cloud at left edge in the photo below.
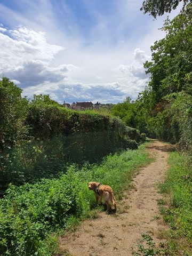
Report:
<svg viewBox="0 0 192 256"><path fill-rule="evenodd" d="M42 31L34 31L23 26L6 30L6 33L1 33L0 36L0 51L9 55L10 61L6 62L11 62L11 66L31 59L52 60L55 54L64 50L61 46L47 43L46 34Z"/></svg>

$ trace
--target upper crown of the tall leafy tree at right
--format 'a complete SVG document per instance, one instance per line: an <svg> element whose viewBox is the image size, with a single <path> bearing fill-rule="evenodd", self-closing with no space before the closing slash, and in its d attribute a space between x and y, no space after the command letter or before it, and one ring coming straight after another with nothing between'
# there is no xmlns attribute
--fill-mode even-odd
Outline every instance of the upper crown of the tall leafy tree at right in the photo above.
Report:
<svg viewBox="0 0 192 256"><path fill-rule="evenodd" d="M162 30L165 38L151 46L152 60L144 63L155 104L167 94L191 91L192 4L172 21L167 18Z"/></svg>

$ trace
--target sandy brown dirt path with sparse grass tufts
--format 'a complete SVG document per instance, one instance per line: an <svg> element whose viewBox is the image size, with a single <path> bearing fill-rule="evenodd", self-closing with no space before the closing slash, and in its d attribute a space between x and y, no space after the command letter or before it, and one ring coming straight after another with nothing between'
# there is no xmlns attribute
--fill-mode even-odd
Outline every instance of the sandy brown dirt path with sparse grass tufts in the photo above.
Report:
<svg viewBox="0 0 192 256"><path fill-rule="evenodd" d="M116 214L99 213L98 219L86 220L75 233L60 238L61 249L73 256L131 256L132 246L141 233L151 231L156 242L163 242L166 227L159 218L157 184L167 170L170 147L154 140L147 148L154 162L140 170L133 179L133 189L117 201Z"/></svg>

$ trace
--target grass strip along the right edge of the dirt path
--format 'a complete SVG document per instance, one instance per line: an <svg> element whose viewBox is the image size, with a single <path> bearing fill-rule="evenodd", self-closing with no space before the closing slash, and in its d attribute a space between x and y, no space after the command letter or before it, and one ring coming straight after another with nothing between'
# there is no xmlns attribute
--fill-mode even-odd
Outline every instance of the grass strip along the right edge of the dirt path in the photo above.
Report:
<svg viewBox="0 0 192 256"><path fill-rule="evenodd" d="M192 255L192 169L186 155L171 153L161 193L170 195L169 208L161 206L170 227L169 255ZM174 245L174 246L173 246Z"/></svg>

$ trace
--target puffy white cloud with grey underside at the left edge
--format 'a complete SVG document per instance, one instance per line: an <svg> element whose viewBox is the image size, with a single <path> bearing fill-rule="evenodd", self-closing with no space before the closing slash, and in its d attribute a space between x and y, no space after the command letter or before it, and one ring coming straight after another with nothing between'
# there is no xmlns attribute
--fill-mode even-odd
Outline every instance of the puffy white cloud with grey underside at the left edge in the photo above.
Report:
<svg viewBox="0 0 192 256"><path fill-rule="evenodd" d="M64 48L47 43L46 34L23 26L0 33L0 73L18 80L22 87L44 80L57 81L68 71L66 65L49 67L50 61ZM9 46L9 47L8 47Z"/></svg>

